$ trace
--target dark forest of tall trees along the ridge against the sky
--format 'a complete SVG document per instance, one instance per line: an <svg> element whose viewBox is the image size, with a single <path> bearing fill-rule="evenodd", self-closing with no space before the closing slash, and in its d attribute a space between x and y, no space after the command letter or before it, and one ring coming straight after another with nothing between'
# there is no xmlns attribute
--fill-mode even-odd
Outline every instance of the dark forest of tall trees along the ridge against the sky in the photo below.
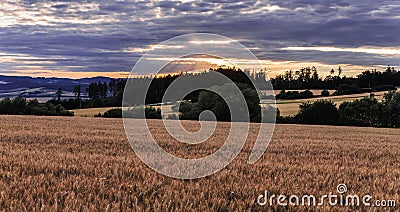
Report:
<svg viewBox="0 0 400 212"><path fill-rule="evenodd" d="M307 89L330 89L336 90L328 94L328 91L321 93L321 96L326 95L346 95L375 91L389 91L396 90L396 86L400 86L400 72L393 67L388 67L385 71L380 72L377 70L364 71L356 77L346 77L343 75L344 70L339 67L336 71L331 70L331 74L325 79L319 77L319 73L315 67L301 68L298 71L286 71L282 75L271 78L270 82L272 87L266 87L267 78L266 72L250 72L249 70L241 70L235 67L232 68L216 68L209 69L202 73L178 73L166 74L157 76L137 77L130 79L113 79L109 83L94 82L86 89L88 94L87 99L82 99L80 85L75 86L75 98L61 100L60 93L57 93L58 98L52 101L53 104L61 104L66 109L77 108L91 108L91 107L117 107L122 105L123 93L126 82L129 80L130 85L150 84L146 94L146 104L156 104L162 102L162 98L167 88L178 77L185 77L188 80L201 80L206 78L210 72L219 72L235 83L247 84L255 86L257 90L275 89L282 90L276 98L281 99L299 99L299 98L313 98L315 97ZM255 82L251 83L249 77ZM205 82L206 83L206 82ZM300 90L305 89L303 92L285 91L285 90ZM134 90L134 89L133 89ZM140 89L137 89L140 90ZM196 100L200 92L193 92L185 97L185 100ZM269 98L269 97L268 97Z"/></svg>

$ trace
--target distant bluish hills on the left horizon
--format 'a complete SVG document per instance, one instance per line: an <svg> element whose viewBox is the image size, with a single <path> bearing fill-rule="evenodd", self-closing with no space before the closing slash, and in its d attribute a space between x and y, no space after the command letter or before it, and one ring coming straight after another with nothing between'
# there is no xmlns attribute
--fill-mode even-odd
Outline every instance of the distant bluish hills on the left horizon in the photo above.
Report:
<svg viewBox="0 0 400 212"><path fill-rule="evenodd" d="M63 90L64 98L73 97L76 85L81 85L83 96L86 89L93 82L107 82L112 78L93 77L82 79L69 78L44 78L27 76L0 76L0 98L23 96L27 98L51 99L55 96L58 88Z"/></svg>

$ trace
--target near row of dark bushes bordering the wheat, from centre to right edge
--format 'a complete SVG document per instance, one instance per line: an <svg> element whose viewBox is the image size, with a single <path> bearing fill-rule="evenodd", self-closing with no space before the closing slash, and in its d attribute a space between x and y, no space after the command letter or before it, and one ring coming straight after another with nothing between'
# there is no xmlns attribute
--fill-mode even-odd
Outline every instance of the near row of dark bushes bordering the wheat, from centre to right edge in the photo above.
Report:
<svg viewBox="0 0 400 212"><path fill-rule="evenodd" d="M400 93L389 92L382 101L374 97L364 97L352 102L343 102L336 107L330 100L317 100L305 102L299 106L299 112L294 116L281 116L279 109L272 106L261 107L257 104L256 93L247 86L241 86L242 93L246 96L249 107L250 122L274 122L280 124L308 124L308 125L338 125L358 127L400 127ZM210 110L217 121L241 121L231 120L229 108L217 95L209 91L201 91L197 102L183 101L173 106L175 112L179 112L181 120L199 120L200 113ZM141 118L137 109L130 112L131 118ZM129 113L127 113L129 114ZM145 107L146 118L161 119L161 110L154 107ZM261 115L264 118L261 120ZM121 118L122 109L112 109L99 115L107 118ZM175 115L164 117L177 119ZM203 118L204 120L204 118ZM207 118L205 119L207 120ZM211 120L211 119L210 119Z"/></svg>

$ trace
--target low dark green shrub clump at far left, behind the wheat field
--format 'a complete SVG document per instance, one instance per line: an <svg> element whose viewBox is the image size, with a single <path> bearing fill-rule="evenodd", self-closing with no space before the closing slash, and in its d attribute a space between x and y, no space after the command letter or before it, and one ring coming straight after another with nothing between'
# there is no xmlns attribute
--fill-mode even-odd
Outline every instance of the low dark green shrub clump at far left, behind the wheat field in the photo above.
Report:
<svg viewBox="0 0 400 212"><path fill-rule="evenodd" d="M37 116L74 116L60 104L40 103L37 99L27 101L24 97L5 98L0 101L0 114Z"/></svg>

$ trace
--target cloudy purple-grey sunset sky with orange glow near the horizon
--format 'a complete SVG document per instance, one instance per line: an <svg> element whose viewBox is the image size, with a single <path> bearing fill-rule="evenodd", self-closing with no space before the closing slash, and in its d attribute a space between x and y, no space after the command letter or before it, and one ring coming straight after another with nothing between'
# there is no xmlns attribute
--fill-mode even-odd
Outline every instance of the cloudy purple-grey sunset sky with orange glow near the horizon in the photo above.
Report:
<svg viewBox="0 0 400 212"><path fill-rule="evenodd" d="M399 21L397 0L5 0L0 75L126 77L157 44L213 33L250 49L271 77L306 66L355 76L400 67Z"/></svg>

